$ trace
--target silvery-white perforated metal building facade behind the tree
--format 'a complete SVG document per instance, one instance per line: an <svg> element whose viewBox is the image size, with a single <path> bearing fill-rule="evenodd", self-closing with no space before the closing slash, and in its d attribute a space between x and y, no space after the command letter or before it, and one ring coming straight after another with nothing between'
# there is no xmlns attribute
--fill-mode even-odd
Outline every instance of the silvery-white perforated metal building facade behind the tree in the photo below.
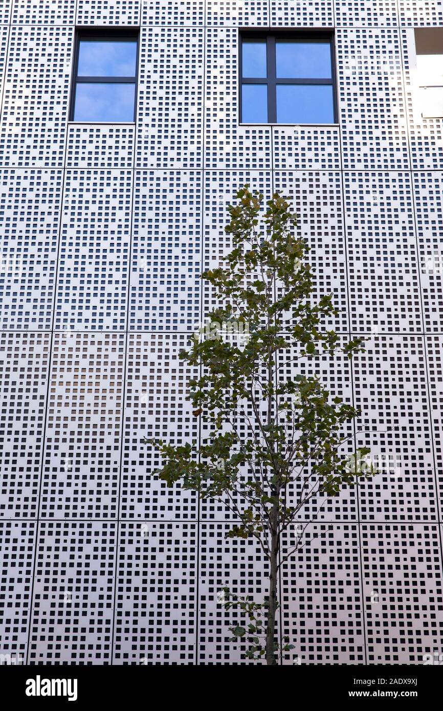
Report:
<svg viewBox="0 0 443 711"><path fill-rule="evenodd" d="M329 326L369 339L317 372L388 462L285 565L280 629L301 664L443 653L439 27L440 0L1 1L0 654L240 663L217 593L260 599L260 550L141 439L201 435L178 353L244 183L292 198ZM73 120L87 28L137 36L135 121ZM329 31L331 122L240 122L248 29Z"/></svg>

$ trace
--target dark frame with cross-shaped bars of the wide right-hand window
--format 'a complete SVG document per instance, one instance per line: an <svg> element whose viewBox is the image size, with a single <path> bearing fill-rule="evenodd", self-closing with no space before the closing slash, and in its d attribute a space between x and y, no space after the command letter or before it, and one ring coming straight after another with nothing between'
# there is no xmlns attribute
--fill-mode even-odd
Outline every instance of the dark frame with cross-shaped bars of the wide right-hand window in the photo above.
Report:
<svg viewBox="0 0 443 711"><path fill-rule="evenodd" d="M297 79L297 77L292 77L289 79L283 79L277 77L276 69L276 59L275 59L275 41L277 40L287 40L287 41L304 41L309 43L323 43L329 42L331 48L331 78L330 79ZM267 58L267 76L266 77L243 77L242 76L242 48L243 41L266 41L266 58ZM338 109L337 109L337 82L336 82L336 53L335 53L335 43L334 43L334 33L331 30L278 30L270 29L269 31L250 31L250 30L240 30L238 36L239 42L239 61L238 61L238 96L239 96L239 123L247 124L250 122L244 122L242 120L242 87L244 84L265 84L267 85L267 122L260 125L266 126L267 124L277 124L277 84L290 84L290 85L326 85L332 87L332 103L333 103L333 123L338 123ZM278 124L277 124L278 125ZM297 125L294 124L282 124L282 125ZM308 124L306 124L308 125ZM316 126L317 124L309 124L310 126ZM319 124L324 125L324 124ZM333 125L333 124L328 124Z"/></svg>

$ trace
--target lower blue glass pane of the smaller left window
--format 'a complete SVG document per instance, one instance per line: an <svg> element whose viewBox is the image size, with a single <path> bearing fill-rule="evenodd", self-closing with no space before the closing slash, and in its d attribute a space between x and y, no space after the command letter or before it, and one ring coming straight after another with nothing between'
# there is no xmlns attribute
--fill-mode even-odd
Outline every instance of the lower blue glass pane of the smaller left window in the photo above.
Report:
<svg viewBox="0 0 443 711"><path fill-rule="evenodd" d="M77 84L74 121L134 121L135 84Z"/></svg>

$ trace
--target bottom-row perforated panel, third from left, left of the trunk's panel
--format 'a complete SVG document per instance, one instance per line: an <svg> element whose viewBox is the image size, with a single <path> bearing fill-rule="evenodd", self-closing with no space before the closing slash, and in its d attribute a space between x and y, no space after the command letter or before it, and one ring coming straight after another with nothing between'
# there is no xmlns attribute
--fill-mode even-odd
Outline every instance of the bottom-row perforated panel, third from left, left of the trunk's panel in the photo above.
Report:
<svg viewBox="0 0 443 711"><path fill-rule="evenodd" d="M114 664L194 664L197 525L119 524Z"/></svg>

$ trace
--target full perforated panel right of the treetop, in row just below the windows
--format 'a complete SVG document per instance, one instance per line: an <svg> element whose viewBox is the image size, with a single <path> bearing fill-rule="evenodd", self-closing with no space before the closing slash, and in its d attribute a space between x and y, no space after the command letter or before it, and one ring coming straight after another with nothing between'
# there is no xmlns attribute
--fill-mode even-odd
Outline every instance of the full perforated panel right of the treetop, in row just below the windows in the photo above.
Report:
<svg viewBox="0 0 443 711"><path fill-rule="evenodd" d="M411 173L343 173L351 330L422 331Z"/></svg>

